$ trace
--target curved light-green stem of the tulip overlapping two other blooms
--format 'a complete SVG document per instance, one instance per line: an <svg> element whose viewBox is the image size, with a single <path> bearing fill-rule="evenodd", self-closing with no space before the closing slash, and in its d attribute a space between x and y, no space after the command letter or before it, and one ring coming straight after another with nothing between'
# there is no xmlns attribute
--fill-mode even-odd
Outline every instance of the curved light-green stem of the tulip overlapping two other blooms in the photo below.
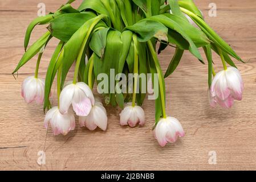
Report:
<svg viewBox="0 0 256 182"><path fill-rule="evenodd" d="M79 73L79 67L80 63L83 57L83 52L84 48L86 47L87 41L91 35L92 30L94 29L95 25L102 19L104 18L105 15L99 15L97 19L95 19L94 22L92 22L89 30L87 31L86 38L84 38L83 44L81 46L81 49L78 53L78 58L76 59L76 66L75 66L75 73L74 73L74 78L73 78L73 84L76 84L76 81L78 80L78 73Z"/></svg>

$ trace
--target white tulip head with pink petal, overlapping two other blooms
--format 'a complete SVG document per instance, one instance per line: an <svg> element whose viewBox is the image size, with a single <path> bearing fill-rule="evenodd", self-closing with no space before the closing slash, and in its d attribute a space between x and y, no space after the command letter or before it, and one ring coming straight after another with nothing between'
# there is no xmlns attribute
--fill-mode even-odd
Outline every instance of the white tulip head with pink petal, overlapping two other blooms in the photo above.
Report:
<svg viewBox="0 0 256 182"><path fill-rule="evenodd" d="M94 94L84 82L69 84L60 93L60 113L68 112L70 105L78 116L87 116L94 105Z"/></svg>

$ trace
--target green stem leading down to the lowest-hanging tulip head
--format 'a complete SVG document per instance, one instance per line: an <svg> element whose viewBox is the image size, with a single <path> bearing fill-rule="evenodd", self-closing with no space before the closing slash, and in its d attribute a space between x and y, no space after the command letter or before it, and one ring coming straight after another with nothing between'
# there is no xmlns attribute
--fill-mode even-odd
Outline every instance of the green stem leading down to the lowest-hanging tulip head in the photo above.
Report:
<svg viewBox="0 0 256 182"><path fill-rule="evenodd" d="M156 71L159 76L159 88L160 88L161 104L162 104L162 116L163 116L163 118L166 118L164 85L162 84L162 81L164 79L162 78L162 72L161 72L161 68L160 68L160 64L159 64L159 59L156 55L156 52L155 52L155 49L153 47L151 40L149 40L147 43L148 43L149 50L151 51L151 54L153 56L153 60L155 61Z"/></svg>

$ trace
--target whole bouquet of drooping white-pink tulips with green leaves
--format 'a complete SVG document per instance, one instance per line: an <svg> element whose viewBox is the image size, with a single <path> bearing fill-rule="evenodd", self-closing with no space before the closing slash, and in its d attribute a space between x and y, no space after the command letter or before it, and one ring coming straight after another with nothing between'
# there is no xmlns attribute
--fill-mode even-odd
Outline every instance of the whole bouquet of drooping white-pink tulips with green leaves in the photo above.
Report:
<svg viewBox="0 0 256 182"><path fill-rule="evenodd" d="M210 105L231 107L242 99L243 81L231 57L242 61L233 49L204 21L192 0L84 0L75 9L70 0L55 13L34 19L26 31L25 53L16 73L38 55L35 75L26 78L22 97L36 101L48 110L45 127L50 123L54 135L66 135L75 129L75 115L80 126L90 130L107 129L104 105L119 106L120 125L144 125L141 108L147 88L153 88L155 125L153 133L161 146L184 136L180 122L165 110L165 78L170 76L184 51L188 50L205 64L198 48L203 48L208 62ZM30 47L33 28L47 24L43 34ZM38 78L44 48L58 39L48 65L45 80ZM164 74L157 54L166 47L175 49ZM215 73L212 51L220 55L224 70ZM67 74L75 64L74 78ZM227 64L230 67L227 67ZM51 87L56 77L58 106L50 102ZM102 97L95 98L94 85ZM72 105L72 109L71 109Z"/></svg>

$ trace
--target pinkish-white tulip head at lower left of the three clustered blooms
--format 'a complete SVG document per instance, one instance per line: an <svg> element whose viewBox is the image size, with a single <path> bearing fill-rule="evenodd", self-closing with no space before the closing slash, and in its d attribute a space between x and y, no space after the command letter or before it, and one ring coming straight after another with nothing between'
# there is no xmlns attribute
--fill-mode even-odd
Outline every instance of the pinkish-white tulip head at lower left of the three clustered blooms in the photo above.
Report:
<svg viewBox="0 0 256 182"><path fill-rule="evenodd" d="M66 114L62 114L57 106L52 107L52 109L48 110L44 119L44 127L46 129L49 122L54 135L67 135L69 131L75 129L75 117L72 110L69 110Z"/></svg>

